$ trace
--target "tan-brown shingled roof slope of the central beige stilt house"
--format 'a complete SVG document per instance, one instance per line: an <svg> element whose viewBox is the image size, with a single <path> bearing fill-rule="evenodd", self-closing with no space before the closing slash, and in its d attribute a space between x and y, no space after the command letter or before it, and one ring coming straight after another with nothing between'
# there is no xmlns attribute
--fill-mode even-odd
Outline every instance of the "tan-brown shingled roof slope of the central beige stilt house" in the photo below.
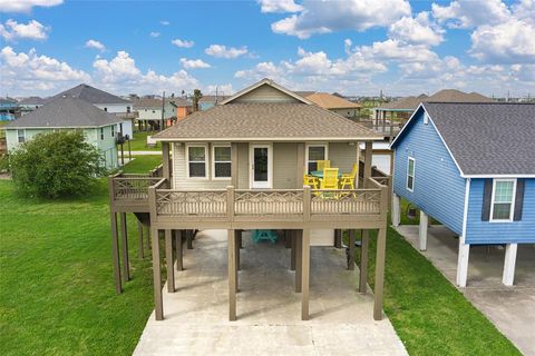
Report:
<svg viewBox="0 0 535 356"><path fill-rule="evenodd" d="M154 136L169 140L382 139L382 136L315 105L230 103L196 111Z"/></svg>

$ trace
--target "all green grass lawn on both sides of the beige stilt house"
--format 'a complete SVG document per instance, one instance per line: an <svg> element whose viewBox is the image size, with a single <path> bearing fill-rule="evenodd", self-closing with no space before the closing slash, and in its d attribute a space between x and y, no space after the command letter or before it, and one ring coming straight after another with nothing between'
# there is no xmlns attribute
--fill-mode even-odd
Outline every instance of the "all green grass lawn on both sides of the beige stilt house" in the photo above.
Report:
<svg viewBox="0 0 535 356"><path fill-rule="evenodd" d="M158 156L125 167L145 172ZM86 198L45 201L0 181L0 354L129 355L153 308L149 258L115 294L106 182ZM374 239L370 244L373 285ZM519 355L417 250L388 231L385 310L411 355ZM371 317L371 316L370 316Z"/></svg>

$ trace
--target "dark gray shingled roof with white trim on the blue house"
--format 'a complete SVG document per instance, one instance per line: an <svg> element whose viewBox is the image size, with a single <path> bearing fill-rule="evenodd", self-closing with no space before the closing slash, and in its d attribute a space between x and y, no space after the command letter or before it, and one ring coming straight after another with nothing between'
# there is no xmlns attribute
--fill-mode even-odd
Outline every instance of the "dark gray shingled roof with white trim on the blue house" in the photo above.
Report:
<svg viewBox="0 0 535 356"><path fill-rule="evenodd" d="M425 102L391 147L425 110L463 177L535 177L535 105Z"/></svg>

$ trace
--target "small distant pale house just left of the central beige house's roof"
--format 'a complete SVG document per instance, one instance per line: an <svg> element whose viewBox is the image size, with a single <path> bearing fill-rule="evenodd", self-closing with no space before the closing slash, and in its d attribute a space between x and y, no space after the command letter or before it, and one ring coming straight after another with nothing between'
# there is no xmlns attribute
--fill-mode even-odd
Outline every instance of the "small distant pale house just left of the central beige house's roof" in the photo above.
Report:
<svg viewBox="0 0 535 356"><path fill-rule="evenodd" d="M176 117L176 99L165 99L165 106L162 105L162 99L155 98L140 98L133 101L134 110L137 112L136 121L139 125L139 129L148 128L156 130L162 125L162 119L169 120ZM162 109L164 110L162 115Z"/></svg>

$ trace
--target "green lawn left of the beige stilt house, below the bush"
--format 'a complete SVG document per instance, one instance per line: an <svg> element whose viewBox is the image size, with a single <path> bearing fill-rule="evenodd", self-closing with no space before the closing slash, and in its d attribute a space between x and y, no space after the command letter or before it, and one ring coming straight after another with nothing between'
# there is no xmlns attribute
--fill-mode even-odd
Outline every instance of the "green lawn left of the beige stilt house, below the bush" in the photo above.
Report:
<svg viewBox="0 0 535 356"><path fill-rule="evenodd" d="M152 162L143 157L127 169ZM137 257L128 215L133 279L117 295L105 180L85 198L59 201L21 197L3 180L0 199L0 353L130 355L153 309L150 258Z"/></svg>

